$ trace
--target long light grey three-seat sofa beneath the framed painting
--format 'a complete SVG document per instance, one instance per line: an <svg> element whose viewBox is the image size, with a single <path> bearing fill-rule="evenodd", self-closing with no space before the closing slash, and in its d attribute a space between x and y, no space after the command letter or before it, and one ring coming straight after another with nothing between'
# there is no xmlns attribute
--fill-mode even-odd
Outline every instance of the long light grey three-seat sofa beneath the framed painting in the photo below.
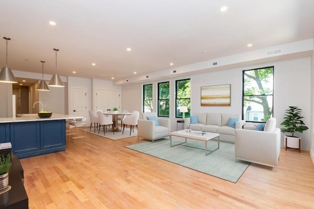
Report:
<svg viewBox="0 0 314 209"><path fill-rule="evenodd" d="M240 118L239 114L228 113L193 113L192 116L198 116L198 123L191 124L190 117L184 119L185 126L192 126L192 130L207 131L218 133L221 141L235 142L235 129L245 125L245 120L235 122L235 128L228 126L230 118Z"/></svg>

